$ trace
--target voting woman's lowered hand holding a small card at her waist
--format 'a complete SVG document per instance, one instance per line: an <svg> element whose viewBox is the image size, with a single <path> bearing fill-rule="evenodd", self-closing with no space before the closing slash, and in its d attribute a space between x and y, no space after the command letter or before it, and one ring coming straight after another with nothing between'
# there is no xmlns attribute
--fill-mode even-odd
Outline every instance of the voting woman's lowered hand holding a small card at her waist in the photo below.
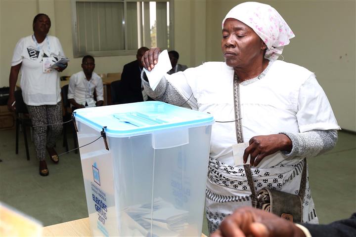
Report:
<svg viewBox="0 0 356 237"><path fill-rule="evenodd" d="M284 134L271 134L252 137L250 146L245 149L243 160L247 162L250 155L251 166L257 166L268 155L278 151L291 151L292 141Z"/></svg>

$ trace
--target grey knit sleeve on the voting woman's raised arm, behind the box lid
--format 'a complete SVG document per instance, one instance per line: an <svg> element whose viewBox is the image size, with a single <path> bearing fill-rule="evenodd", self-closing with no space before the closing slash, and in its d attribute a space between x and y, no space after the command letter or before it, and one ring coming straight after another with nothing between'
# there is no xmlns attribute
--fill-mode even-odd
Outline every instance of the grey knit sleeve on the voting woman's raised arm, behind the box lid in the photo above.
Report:
<svg viewBox="0 0 356 237"><path fill-rule="evenodd" d="M142 71L141 79L143 88L149 97L158 101L191 109L191 107L187 103L189 99L185 99L185 97L181 95L178 90L165 77L161 79L155 90L152 90L149 85L149 82L144 79L145 77L146 75L144 71Z"/></svg>

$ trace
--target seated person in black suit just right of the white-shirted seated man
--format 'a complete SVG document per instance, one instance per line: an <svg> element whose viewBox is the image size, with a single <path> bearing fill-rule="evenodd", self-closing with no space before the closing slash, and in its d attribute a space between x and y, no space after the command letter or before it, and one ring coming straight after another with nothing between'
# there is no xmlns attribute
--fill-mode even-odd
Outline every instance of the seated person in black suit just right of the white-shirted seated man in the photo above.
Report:
<svg viewBox="0 0 356 237"><path fill-rule="evenodd" d="M124 69L121 74L121 91L123 103L134 103L147 100L147 95L144 93L142 95L142 82L141 82L141 72L142 64L141 58L148 50L147 47L140 47L137 50L136 60L128 63L124 66Z"/></svg>

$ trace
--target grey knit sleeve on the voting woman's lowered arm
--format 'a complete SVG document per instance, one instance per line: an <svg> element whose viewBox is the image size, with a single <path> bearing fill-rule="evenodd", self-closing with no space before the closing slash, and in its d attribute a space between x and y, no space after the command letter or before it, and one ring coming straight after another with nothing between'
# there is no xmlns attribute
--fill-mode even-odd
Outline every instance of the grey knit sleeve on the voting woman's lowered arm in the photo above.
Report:
<svg viewBox="0 0 356 237"><path fill-rule="evenodd" d="M292 151L282 151L287 158L315 157L331 150L338 139L337 130L311 130L302 133L281 132L292 141Z"/></svg>

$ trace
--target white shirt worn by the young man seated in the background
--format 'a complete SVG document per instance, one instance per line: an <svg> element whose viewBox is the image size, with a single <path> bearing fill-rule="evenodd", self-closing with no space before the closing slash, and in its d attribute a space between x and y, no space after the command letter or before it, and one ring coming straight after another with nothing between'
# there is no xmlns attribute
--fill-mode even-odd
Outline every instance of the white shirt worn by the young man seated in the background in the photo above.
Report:
<svg viewBox="0 0 356 237"><path fill-rule="evenodd" d="M96 90L96 100L104 100L102 79L92 73L91 79L87 80L83 71L73 74L69 79L68 99L74 99L78 104L87 107L95 107L94 90Z"/></svg>

